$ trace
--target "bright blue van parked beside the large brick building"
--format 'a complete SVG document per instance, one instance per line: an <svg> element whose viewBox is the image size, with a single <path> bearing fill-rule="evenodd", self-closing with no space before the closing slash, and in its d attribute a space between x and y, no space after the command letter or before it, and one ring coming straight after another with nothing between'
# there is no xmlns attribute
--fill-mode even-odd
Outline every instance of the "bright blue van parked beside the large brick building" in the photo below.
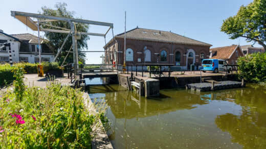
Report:
<svg viewBox="0 0 266 149"><path fill-rule="evenodd" d="M220 59L204 59L202 61L203 72L213 71L214 73L218 73L219 71L226 71L226 66L228 65L225 60ZM232 66L227 66L227 71L230 73L232 71Z"/></svg>

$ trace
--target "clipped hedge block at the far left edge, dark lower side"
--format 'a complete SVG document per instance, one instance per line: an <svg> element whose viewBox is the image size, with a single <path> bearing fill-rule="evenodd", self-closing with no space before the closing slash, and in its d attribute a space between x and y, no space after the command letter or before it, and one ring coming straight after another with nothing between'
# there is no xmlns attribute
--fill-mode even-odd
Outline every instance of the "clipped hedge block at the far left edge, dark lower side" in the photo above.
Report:
<svg viewBox="0 0 266 149"><path fill-rule="evenodd" d="M13 82L15 78L12 70L14 70L14 67L9 64L0 65L0 86Z"/></svg>

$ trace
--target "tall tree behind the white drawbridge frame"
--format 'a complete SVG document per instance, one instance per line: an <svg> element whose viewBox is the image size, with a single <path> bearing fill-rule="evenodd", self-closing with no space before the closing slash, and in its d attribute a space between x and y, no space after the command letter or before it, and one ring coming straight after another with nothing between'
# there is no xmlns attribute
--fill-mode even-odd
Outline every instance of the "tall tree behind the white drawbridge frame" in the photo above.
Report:
<svg viewBox="0 0 266 149"><path fill-rule="evenodd" d="M43 15L74 18L75 12L66 10L67 6L68 5L66 5L65 3L56 3L55 9L48 8L48 7L44 6L44 7L41 7L40 13ZM79 19L81 19L81 18L79 18ZM53 25L56 27L71 29L70 24L68 22L65 22L65 21L49 21L49 22L46 22L46 24L50 24L50 25ZM56 29L56 28L53 28L50 26L44 26L43 24L40 24L40 26L43 29ZM88 24L84 24L84 23L76 23L76 29L77 29L77 31L87 32L89 29L89 26L88 26ZM45 32L45 37L49 40L49 41L47 41L47 45L54 51L54 53L57 53L59 51L59 48L63 44L66 36L68 36L68 34ZM77 46L78 46L78 51L79 51L78 57L79 57L79 61L82 63L84 63L84 61L85 61L85 54L80 52L80 51L81 51L81 49L88 47L87 46L87 40L89 40L89 39L90 39L90 37L88 37L86 35L81 35L81 40L77 40ZM58 56L58 62L60 65L63 62L63 60L67 54L67 52L65 52L65 51L69 51L71 45L72 45L72 38L70 36L68 38L68 40L66 40L65 45L62 48L61 54ZM68 56L68 58L66 58L65 62L66 63L72 63L73 62L73 54L72 53L69 54L69 56Z"/></svg>

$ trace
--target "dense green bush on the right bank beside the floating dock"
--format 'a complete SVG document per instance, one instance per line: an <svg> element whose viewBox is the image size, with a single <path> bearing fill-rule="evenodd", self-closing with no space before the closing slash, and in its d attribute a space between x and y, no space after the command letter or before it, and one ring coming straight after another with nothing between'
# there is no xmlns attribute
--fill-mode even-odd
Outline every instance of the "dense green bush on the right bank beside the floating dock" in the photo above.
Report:
<svg viewBox="0 0 266 149"><path fill-rule="evenodd" d="M239 78L248 82L266 83L266 53L254 53L237 59Z"/></svg>

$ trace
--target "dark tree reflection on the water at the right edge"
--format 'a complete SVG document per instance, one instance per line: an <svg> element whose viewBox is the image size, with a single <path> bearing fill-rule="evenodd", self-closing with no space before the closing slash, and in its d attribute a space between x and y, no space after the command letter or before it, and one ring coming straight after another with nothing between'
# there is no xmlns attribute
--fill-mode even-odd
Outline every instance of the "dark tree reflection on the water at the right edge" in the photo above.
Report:
<svg viewBox="0 0 266 149"><path fill-rule="evenodd" d="M245 148L266 147L266 98L264 86L250 85L236 91L234 102L241 105L241 114L226 113L215 118L216 125L230 132L232 142Z"/></svg>

